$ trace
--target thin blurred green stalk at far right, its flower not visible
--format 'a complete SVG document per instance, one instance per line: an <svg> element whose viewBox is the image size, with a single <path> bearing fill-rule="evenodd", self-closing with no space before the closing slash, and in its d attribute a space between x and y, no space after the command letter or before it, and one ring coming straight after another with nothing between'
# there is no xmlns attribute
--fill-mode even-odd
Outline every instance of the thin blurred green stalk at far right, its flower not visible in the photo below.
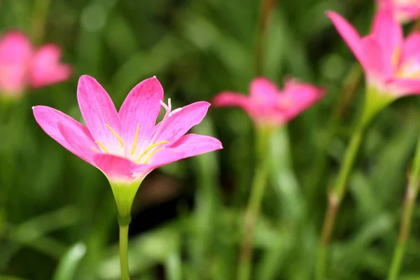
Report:
<svg viewBox="0 0 420 280"><path fill-rule="evenodd" d="M416 198L419 195L420 186L420 138L417 142L416 155L413 162L412 172L409 175L407 191L404 200L404 209L401 216L400 233L398 235L398 244L395 246L391 267L388 272L388 280L398 279L402 259L404 258L405 248L409 237L413 210L416 205Z"/></svg>

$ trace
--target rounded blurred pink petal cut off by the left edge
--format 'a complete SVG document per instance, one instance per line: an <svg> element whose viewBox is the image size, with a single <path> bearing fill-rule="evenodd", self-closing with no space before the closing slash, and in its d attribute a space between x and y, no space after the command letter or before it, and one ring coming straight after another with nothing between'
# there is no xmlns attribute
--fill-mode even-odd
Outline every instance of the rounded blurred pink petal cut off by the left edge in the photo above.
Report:
<svg viewBox="0 0 420 280"><path fill-rule="evenodd" d="M32 46L19 31L9 31L0 41L0 90L22 94L27 87Z"/></svg>

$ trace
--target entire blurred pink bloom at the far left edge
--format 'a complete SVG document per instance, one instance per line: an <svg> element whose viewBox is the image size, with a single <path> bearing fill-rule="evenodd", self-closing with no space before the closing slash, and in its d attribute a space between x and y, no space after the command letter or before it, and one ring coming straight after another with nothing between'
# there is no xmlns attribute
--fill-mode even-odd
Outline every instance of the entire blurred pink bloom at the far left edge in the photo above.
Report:
<svg viewBox="0 0 420 280"><path fill-rule="evenodd" d="M43 45L34 50L20 31L8 31L0 39L0 92L20 96L28 87L59 83L71 76L71 66L60 64L61 49Z"/></svg>

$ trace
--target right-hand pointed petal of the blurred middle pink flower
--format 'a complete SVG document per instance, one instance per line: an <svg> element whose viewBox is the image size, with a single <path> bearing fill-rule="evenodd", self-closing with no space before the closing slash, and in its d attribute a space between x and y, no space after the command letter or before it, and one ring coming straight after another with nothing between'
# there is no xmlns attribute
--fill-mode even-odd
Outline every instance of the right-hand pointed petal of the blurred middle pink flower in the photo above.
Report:
<svg viewBox="0 0 420 280"><path fill-rule="evenodd" d="M294 79L286 80L283 96L288 99L289 107L283 109L281 115L284 122L308 109L325 94L325 88L315 87L309 83L299 83Z"/></svg>

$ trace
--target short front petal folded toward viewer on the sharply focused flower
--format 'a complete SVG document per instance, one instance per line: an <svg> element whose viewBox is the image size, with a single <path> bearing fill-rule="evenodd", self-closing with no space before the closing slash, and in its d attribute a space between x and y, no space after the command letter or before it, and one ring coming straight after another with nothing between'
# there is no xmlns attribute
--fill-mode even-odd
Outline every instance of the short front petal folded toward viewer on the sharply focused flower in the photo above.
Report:
<svg viewBox="0 0 420 280"><path fill-rule="evenodd" d="M105 174L106 178L113 183L131 183L136 180L141 180L142 178L134 175L134 172L145 168L127 158L121 158L118 155L108 155L106 153L97 153L94 155L93 160L95 165Z"/></svg>

